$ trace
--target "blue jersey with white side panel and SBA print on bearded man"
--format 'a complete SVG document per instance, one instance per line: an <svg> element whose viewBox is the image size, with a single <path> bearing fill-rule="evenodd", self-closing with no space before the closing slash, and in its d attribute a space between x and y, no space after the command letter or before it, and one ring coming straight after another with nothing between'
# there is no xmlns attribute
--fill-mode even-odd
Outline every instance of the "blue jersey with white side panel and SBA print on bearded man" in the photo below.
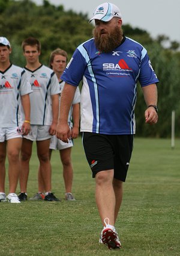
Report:
<svg viewBox="0 0 180 256"><path fill-rule="evenodd" d="M61 79L72 86L83 81L80 131L100 134L134 134L137 80L158 83L146 49L128 37L108 53L94 39L82 43Z"/></svg>

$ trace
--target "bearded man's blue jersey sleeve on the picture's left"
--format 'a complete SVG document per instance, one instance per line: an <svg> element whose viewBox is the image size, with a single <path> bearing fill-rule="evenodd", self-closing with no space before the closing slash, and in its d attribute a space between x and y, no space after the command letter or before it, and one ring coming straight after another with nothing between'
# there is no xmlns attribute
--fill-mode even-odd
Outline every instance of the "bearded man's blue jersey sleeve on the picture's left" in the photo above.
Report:
<svg viewBox="0 0 180 256"><path fill-rule="evenodd" d="M78 86L83 78L87 63L83 55L80 53L79 49L73 54L70 62L64 70L61 79L71 86Z"/></svg>

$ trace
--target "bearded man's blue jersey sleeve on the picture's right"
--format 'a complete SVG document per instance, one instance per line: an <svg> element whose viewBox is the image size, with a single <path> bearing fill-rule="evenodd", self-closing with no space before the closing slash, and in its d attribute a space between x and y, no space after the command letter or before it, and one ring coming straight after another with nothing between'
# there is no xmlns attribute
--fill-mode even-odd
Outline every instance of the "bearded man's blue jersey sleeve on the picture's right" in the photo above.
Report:
<svg viewBox="0 0 180 256"><path fill-rule="evenodd" d="M155 84L159 82L157 75L155 74L154 69L152 68L151 61L149 60L147 52L144 57L142 56L138 79L142 87L149 86L149 84Z"/></svg>

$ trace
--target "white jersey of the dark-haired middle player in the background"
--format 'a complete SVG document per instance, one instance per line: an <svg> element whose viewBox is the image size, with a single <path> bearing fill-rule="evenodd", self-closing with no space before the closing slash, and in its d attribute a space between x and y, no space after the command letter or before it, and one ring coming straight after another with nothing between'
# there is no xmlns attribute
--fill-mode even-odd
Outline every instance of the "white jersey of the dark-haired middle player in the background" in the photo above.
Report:
<svg viewBox="0 0 180 256"><path fill-rule="evenodd" d="M31 83L31 125L52 124L51 96L60 93L58 78L52 69L41 65L31 71L25 67L28 80Z"/></svg>

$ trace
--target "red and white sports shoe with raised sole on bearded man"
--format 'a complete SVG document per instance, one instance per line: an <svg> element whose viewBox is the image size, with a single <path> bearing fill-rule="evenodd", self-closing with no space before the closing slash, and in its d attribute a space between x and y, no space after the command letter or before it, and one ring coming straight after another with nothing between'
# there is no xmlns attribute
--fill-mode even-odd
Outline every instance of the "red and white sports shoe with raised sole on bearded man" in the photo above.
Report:
<svg viewBox="0 0 180 256"><path fill-rule="evenodd" d="M106 223L106 219L108 223ZM109 249L119 249L121 248L121 242L119 240L118 234L115 228L109 227L109 219L104 219L104 226L103 230L101 231L99 243L104 243L108 246Z"/></svg>

